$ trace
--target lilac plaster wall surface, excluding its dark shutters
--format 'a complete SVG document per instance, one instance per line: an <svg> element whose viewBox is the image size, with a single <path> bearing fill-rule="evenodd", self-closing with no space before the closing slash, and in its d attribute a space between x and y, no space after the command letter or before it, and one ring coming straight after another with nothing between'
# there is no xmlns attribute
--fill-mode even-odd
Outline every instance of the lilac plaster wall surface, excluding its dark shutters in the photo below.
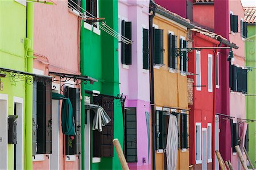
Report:
<svg viewBox="0 0 256 170"><path fill-rule="evenodd" d="M121 43L119 43L119 81L120 93L127 99L125 107L137 107L137 154L138 162L129 163L130 169L150 169L151 154L148 160L146 111L150 112L149 71L143 69L143 28L148 29L149 0L118 1L119 32L121 22L126 20L132 26L132 64L122 65ZM151 152L151 147L150 147ZM146 163L142 158L146 157Z"/></svg>

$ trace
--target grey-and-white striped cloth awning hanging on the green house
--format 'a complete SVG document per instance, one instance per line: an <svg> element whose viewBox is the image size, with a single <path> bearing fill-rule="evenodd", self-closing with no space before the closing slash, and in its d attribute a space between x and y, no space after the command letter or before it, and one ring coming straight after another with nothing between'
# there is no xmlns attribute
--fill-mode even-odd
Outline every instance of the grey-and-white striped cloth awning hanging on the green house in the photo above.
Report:
<svg viewBox="0 0 256 170"><path fill-rule="evenodd" d="M107 125L111 119L103 107L93 104L85 104L85 109L92 109L95 113L93 118L93 130L102 131L102 126Z"/></svg>

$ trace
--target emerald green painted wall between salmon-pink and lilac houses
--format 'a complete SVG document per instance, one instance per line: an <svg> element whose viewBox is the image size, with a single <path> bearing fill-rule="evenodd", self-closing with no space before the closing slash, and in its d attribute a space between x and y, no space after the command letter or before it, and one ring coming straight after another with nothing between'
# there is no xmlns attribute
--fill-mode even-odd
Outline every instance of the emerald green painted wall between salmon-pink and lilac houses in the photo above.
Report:
<svg viewBox="0 0 256 170"><path fill-rule="evenodd" d="M86 9L85 3L82 6ZM106 24L118 32L118 1L99 0L99 17L105 18ZM82 85L82 89L98 90L101 94L116 96L119 94L118 39L101 30L101 35L81 28L81 73L96 78L93 85ZM84 98L84 94L82 95ZM82 108L83 109L83 108ZM122 109L114 103L114 138L123 147ZM91 140L93 143L93 141ZM92 155L92 154L91 154ZM101 158L101 163L92 163L91 169L121 169L118 156L114 150L113 158Z"/></svg>

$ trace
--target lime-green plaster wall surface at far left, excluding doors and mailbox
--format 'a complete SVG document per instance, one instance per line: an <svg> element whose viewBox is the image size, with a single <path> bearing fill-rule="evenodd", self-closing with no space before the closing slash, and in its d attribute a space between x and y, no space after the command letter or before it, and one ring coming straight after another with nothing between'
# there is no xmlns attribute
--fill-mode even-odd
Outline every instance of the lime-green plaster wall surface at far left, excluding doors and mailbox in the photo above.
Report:
<svg viewBox="0 0 256 170"><path fill-rule="evenodd" d="M25 70L24 40L26 39L26 7L13 0L0 1L0 67ZM1 78L2 94L8 94L8 114L14 114L13 98L23 98L23 113L25 113L25 82L14 82L9 76ZM1 115L0 118L2 119ZM24 125L24 115L23 115ZM8 168L13 169L13 144L8 144ZM23 126L24 155L24 126ZM24 168L23 156L23 168Z"/></svg>

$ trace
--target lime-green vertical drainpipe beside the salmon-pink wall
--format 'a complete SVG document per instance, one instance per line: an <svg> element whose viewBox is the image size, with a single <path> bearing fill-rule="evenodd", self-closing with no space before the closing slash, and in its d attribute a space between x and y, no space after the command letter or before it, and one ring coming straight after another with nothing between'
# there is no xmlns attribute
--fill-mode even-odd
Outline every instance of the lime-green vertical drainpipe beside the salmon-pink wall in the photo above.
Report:
<svg viewBox="0 0 256 170"><path fill-rule="evenodd" d="M34 29L34 3L27 3L27 45L26 60L27 72L33 72L33 29ZM26 169L33 169L32 164L32 101L33 84L26 84Z"/></svg>

